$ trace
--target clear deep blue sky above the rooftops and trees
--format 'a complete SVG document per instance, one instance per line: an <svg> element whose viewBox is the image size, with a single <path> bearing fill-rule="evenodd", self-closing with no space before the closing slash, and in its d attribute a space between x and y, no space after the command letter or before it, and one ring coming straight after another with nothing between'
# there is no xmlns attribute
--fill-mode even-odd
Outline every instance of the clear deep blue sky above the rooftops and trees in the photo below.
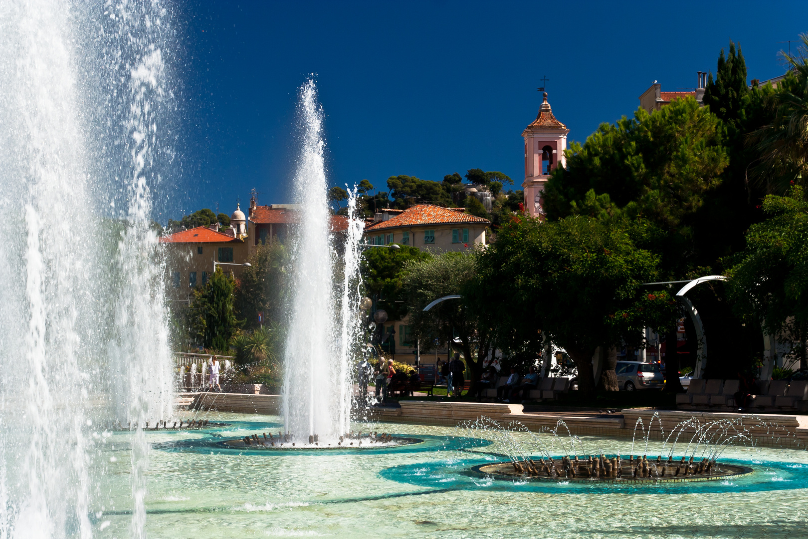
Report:
<svg viewBox="0 0 808 539"><path fill-rule="evenodd" d="M158 218L217 202L232 213L253 187L259 204L292 201L296 94L309 74L331 185L482 168L521 188L520 135L542 77L570 140L583 141L632 114L654 80L694 87L730 39L750 79L782 74L777 53L808 32L806 15L808 2L179 4L183 170L164 184Z"/></svg>

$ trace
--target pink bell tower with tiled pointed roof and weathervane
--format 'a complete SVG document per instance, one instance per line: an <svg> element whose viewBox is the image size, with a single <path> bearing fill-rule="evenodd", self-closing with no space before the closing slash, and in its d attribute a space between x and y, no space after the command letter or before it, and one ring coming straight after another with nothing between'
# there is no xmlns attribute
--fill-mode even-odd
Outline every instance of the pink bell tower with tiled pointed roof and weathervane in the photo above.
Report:
<svg viewBox="0 0 808 539"><path fill-rule="evenodd" d="M570 130L556 120L547 92L542 94L544 101L539 107L539 115L532 124L524 128L524 209L531 217L545 214L542 208L545 183L556 166L566 166L564 150L566 135Z"/></svg>

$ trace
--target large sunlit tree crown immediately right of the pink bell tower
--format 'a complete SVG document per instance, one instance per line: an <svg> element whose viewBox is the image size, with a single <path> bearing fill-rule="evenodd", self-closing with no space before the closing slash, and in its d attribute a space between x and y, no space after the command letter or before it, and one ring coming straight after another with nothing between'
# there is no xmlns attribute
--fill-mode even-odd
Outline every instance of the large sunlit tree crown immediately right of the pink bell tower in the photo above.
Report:
<svg viewBox="0 0 808 539"><path fill-rule="evenodd" d="M695 99L676 99L632 120L600 124L582 145L567 150L567 167L553 171L545 191L551 220L583 213L579 201L594 190L629 216L664 229L686 226L727 164L718 118Z"/></svg>

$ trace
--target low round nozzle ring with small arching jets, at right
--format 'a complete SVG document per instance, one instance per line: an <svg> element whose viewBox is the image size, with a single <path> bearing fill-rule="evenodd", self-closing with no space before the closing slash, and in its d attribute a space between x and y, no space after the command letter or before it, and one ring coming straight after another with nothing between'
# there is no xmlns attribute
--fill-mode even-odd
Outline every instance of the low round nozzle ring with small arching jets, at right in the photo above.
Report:
<svg viewBox="0 0 808 539"><path fill-rule="evenodd" d="M626 465L628 465L628 461L625 461ZM624 468L625 469L625 468ZM676 467L672 466L672 469L675 470ZM754 470L748 468L747 466L739 466L734 464L724 464L721 462L716 462L715 465L709 470L709 472L702 473L702 474L693 474L690 473L688 475L684 475L684 471L682 471L679 475L671 474L668 472L665 477L659 476L650 476L650 477L631 477L624 476L621 478L591 478L591 477L569 477L569 475L562 475L558 476L556 474L547 475L546 472L542 472L539 475L536 474L529 474L526 471L520 472L517 471L511 461L506 462L494 462L491 464L481 464L477 466L473 466L470 470L472 474L477 475L480 478L494 478L494 479L518 479L520 481L535 481L535 482L558 482L559 480L566 481L566 482L582 482L582 483L659 483L659 482L696 482L696 481L716 481L716 480L723 480L726 478L739 478L743 477L744 475L751 474ZM675 473L675 472L674 472ZM562 471L562 474L564 472Z"/></svg>

